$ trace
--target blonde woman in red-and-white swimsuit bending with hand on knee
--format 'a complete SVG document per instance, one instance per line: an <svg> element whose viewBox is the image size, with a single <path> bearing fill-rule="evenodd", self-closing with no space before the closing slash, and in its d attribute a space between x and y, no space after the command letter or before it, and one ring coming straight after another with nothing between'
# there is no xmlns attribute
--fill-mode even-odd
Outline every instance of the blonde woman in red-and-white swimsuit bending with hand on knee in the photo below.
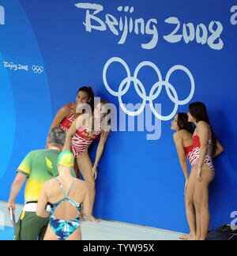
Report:
<svg viewBox="0 0 237 256"><path fill-rule="evenodd" d="M106 100L100 100L93 114L85 113L77 117L66 134L66 141L62 150L71 150L76 158L81 175L88 186L88 194L91 202L91 213L95 201L95 179L97 177L97 166L103 154L104 145L110 132L110 122L106 118L110 114L109 104ZM109 117L109 116L108 116ZM95 164L88 157L87 149L92 141L100 137L96 151ZM88 220L99 222L94 216L88 216Z"/></svg>

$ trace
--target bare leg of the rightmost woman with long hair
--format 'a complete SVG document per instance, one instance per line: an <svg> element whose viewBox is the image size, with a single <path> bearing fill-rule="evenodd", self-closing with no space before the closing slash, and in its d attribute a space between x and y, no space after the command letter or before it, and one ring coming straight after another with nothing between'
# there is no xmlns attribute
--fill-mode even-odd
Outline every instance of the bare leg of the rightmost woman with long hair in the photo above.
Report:
<svg viewBox="0 0 237 256"><path fill-rule="evenodd" d="M194 205L197 212L197 239L205 240L209 232L209 183L213 181L215 174L203 164L201 181L196 179L194 189Z"/></svg>

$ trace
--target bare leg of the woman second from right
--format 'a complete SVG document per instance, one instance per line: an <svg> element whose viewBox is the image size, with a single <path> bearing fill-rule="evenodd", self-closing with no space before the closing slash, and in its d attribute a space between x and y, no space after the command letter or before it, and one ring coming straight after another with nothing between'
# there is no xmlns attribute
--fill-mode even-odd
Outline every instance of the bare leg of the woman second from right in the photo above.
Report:
<svg viewBox="0 0 237 256"><path fill-rule="evenodd" d="M195 186L195 171L192 168L189 181L186 187L186 218L190 227L190 235L184 235L183 239L195 239L196 236L196 218L194 210L194 186ZM182 237L181 237L182 239Z"/></svg>

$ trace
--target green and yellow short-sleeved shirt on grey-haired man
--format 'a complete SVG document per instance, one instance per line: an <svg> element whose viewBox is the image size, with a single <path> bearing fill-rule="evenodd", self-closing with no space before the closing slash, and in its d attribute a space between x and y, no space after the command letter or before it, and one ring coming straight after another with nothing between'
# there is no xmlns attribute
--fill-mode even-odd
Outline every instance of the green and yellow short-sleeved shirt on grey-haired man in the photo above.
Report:
<svg viewBox="0 0 237 256"><path fill-rule="evenodd" d="M28 177L24 191L24 202L38 201L43 183L58 176L58 155L55 149L29 152L17 169ZM72 170L72 175L75 173Z"/></svg>

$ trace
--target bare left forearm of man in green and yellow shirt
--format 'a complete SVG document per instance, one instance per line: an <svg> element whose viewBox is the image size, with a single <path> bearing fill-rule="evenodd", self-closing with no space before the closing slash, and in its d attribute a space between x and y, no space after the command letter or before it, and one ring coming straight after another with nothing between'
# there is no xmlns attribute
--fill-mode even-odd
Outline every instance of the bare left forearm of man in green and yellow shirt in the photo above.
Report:
<svg viewBox="0 0 237 256"><path fill-rule="evenodd" d="M23 186L25 179L27 179L27 176L22 174L21 172L17 173L16 178L13 181L13 185L11 187L10 195L8 204L6 205L7 213L10 214L10 207L13 209L13 214L15 213L15 201L17 199L17 195L19 194L21 187Z"/></svg>

